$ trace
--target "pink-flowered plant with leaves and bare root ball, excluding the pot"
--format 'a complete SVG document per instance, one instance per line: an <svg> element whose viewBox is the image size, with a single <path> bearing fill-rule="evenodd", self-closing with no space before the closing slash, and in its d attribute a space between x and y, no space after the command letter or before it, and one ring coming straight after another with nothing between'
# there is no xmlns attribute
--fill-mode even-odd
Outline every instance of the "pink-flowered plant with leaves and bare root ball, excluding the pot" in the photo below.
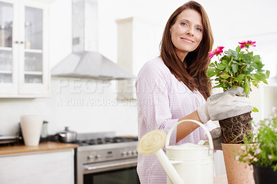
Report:
<svg viewBox="0 0 277 184"><path fill-rule="evenodd" d="M224 47L219 46L208 53L210 58L216 55L219 59L219 62L212 62L207 71L208 77L213 77L210 81L215 81L216 85L213 88L222 88L226 91L241 86L244 88L245 96L248 97L251 86L258 87L261 81L267 84L269 71L262 70L264 64L260 61L260 55L253 55L253 51L249 51L249 47L255 46L255 43L239 42L240 46L235 50L225 51L225 54L223 54ZM258 109L254 108L253 111ZM244 136L252 130L250 120L251 112L220 120L223 142L233 144L243 142Z"/></svg>

